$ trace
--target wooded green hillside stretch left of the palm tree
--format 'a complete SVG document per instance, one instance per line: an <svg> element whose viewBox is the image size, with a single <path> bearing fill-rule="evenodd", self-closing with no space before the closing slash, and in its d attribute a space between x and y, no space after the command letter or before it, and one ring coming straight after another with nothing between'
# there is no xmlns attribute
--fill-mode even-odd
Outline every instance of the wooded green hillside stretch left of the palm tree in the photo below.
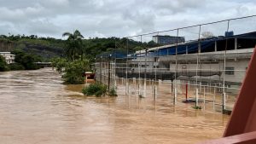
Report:
<svg viewBox="0 0 256 144"><path fill-rule="evenodd" d="M26 52L26 54L40 55L43 61L61 56L64 45L63 40L52 37L0 35L0 51L19 49Z"/></svg>

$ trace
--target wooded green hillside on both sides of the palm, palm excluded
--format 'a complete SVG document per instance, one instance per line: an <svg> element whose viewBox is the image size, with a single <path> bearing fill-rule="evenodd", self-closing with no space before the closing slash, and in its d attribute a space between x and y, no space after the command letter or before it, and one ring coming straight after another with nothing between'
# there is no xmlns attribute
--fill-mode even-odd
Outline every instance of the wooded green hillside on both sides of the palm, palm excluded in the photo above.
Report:
<svg viewBox="0 0 256 144"><path fill-rule="evenodd" d="M154 47L154 42L140 43L129 40L129 51L133 52L137 49L145 49L147 47ZM44 61L48 61L53 57L64 56L64 49L66 47L66 40L56 39L53 37L37 37L32 36L0 36L0 51L13 51L20 49L28 54L40 55ZM125 38L108 37L108 38L90 38L83 39L84 55L93 60L96 55L104 52L119 49L126 52L127 40Z"/></svg>

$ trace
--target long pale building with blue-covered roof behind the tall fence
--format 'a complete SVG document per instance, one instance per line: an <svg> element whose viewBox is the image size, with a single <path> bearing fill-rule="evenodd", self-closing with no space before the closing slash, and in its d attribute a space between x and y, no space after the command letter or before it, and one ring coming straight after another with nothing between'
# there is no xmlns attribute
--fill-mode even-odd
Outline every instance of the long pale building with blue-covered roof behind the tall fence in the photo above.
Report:
<svg viewBox="0 0 256 144"><path fill-rule="evenodd" d="M128 60L128 77L225 85L232 91L241 86L255 44L256 32L249 32L150 48L146 57L139 50Z"/></svg>

